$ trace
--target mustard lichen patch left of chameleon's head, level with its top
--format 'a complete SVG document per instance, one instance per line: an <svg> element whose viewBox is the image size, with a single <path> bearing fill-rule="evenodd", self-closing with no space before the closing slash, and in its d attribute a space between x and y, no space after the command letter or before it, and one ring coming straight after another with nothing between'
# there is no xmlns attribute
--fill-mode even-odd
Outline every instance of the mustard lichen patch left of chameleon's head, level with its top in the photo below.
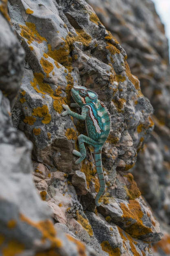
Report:
<svg viewBox="0 0 170 256"><path fill-rule="evenodd" d="M34 73L34 79L30 82L34 90L38 93L46 94L49 93L51 96L54 94L51 86L44 83L44 75L42 73Z"/></svg>

